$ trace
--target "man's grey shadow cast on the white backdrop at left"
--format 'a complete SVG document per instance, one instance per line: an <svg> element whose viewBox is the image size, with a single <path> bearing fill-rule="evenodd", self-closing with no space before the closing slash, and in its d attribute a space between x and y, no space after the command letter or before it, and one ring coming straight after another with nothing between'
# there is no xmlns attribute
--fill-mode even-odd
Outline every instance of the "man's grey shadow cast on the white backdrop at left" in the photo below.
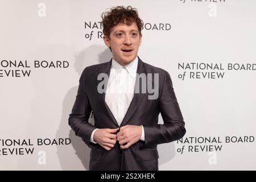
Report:
<svg viewBox="0 0 256 182"><path fill-rule="evenodd" d="M104 50L102 52L102 50ZM74 68L79 77L81 76L82 71L85 67L88 67L93 64L100 64L109 61L112 57L111 52L106 46L98 46L92 45L75 55ZM79 80L77 80L79 82ZM75 150L75 154L81 160L82 166L86 170L89 169L89 160L90 160L90 148L82 141L80 137L75 135L75 132L68 125L68 117L71 113L73 104L75 103L75 98L77 94L78 85L69 89L64 100L63 100L63 111L61 115L60 127L57 131L57 136L63 136L67 133L67 129L69 130L69 139L71 139L72 147ZM89 122L94 125L94 119L89 118ZM67 151L62 148L62 146L58 147L57 154L59 156L60 164L62 169L71 169L69 167L70 163L67 160ZM73 155L73 154L71 154Z"/></svg>

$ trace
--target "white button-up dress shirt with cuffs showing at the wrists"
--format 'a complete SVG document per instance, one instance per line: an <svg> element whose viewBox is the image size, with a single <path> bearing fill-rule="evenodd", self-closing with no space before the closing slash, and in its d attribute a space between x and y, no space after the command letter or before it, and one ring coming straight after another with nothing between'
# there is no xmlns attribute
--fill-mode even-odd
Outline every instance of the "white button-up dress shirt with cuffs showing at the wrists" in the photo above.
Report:
<svg viewBox="0 0 256 182"><path fill-rule="evenodd" d="M118 64L117 61L112 59L105 102L109 106L119 126L131 104L131 100L133 100L137 67L138 57L125 66ZM96 143L93 140L93 135L96 130L97 129L93 130L90 142ZM144 141L143 126L140 140Z"/></svg>

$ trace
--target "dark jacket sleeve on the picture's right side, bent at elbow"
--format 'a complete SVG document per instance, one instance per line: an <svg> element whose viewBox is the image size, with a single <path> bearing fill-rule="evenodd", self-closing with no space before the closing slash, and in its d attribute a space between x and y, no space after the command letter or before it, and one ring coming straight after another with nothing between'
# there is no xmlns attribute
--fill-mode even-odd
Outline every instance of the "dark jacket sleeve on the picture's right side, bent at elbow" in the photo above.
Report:
<svg viewBox="0 0 256 182"><path fill-rule="evenodd" d="M164 124L144 126L145 142L142 146L173 142L185 135L185 123L168 72L165 73L159 97L158 107Z"/></svg>

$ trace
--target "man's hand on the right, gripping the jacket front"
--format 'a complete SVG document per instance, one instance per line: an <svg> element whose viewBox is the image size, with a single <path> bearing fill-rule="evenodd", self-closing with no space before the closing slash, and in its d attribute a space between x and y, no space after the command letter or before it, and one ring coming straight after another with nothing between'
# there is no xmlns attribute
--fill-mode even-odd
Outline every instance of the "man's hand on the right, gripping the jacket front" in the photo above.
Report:
<svg viewBox="0 0 256 182"><path fill-rule="evenodd" d="M117 133L117 140L121 149L129 148L132 144L138 142L141 138L142 126L125 125ZM127 143L127 144L125 144ZM125 145L123 145L125 144Z"/></svg>

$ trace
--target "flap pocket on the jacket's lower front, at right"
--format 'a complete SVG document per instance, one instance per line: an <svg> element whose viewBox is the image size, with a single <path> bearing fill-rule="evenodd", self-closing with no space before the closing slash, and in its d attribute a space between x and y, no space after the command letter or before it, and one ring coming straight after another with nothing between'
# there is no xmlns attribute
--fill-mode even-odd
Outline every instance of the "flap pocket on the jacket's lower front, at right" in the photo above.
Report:
<svg viewBox="0 0 256 182"><path fill-rule="evenodd" d="M138 161L143 161L143 160L154 160L158 159L158 150L153 149L153 150L135 150L136 154L136 159Z"/></svg>

